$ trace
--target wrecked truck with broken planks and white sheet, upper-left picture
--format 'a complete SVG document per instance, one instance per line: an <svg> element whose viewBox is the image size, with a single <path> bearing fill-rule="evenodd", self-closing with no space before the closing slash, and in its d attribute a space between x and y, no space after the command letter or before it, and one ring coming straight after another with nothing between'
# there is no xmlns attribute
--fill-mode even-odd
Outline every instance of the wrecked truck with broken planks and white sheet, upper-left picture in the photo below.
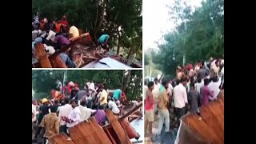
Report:
<svg viewBox="0 0 256 144"><path fill-rule="evenodd" d="M69 45L56 50L51 55L46 53L41 43L35 43L34 55L38 62L32 62L32 68L67 68L60 57L62 52L67 52L78 68L142 68L141 63L128 62L120 55L98 49L92 43L89 33L70 39Z"/></svg>

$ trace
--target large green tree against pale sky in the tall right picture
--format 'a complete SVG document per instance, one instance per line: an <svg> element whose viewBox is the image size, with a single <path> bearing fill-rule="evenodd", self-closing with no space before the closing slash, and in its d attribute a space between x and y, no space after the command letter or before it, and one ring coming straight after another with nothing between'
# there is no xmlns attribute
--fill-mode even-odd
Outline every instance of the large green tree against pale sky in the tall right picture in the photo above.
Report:
<svg viewBox="0 0 256 144"><path fill-rule="evenodd" d="M210 57L223 57L223 0L206 0L194 12L186 5L186 0L175 0L170 11L170 18L176 19L177 27L165 35L165 44L159 45L158 53L153 55L153 62L160 65L162 72L175 74L183 55L186 55L186 63L192 64Z"/></svg>

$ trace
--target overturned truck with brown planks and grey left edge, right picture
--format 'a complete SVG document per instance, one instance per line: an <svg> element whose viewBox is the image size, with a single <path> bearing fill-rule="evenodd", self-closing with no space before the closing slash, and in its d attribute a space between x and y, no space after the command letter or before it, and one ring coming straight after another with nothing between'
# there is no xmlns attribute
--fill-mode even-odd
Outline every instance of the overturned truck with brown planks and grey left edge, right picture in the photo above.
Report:
<svg viewBox="0 0 256 144"><path fill-rule="evenodd" d="M224 144L224 90L218 99L200 107L202 120L198 115L182 117L175 144Z"/></svg>

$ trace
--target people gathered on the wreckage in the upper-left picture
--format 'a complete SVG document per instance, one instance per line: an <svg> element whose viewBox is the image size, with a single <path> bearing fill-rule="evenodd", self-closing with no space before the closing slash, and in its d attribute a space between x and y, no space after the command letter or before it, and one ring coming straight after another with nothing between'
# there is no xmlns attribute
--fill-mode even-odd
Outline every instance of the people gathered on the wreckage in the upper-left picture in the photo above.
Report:
<svg viewBox="0 0 256 144"><path fill-rule="evenodd" d="M90 34L87 33L87 35L91 44L95 46L94 42L92 42L92 39L90 38ZM74 38L78 38L79 36L78 28L70 25L66 15L63 15L60 20L52 21L48 21L47 18L40 19L39 14L35 15L32 19L32 63L38 62L38 59L34 55L35 43L42 43L46 50L46 54L51 55L63 46L68 46ZM109 39L110 36L108 34L102 34L102 36L98 38L97 46L99 48L109 50ZM60 56L62 61L66 63L66 66L69 68L74 68L78 65L76 62L77 55L70 56L68 54L68 50L66 52L62 52Z"/></svg>

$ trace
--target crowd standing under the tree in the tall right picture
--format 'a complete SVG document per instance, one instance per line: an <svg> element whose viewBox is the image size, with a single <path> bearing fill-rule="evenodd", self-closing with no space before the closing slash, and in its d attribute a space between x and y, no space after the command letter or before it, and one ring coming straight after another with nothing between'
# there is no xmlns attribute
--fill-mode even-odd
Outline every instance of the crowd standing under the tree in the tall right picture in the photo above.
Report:
<svg viewBox="0 0 256 144"><path fill-rule="evenodd" d="M210 58L209 62L197 62L194 67L178 66L173 80L158 78L145 82L145 133L152 141L152 125L158 121L156 135L165 125L166 133L177 129L183 115L198 114L198 107L207 105L224 89L224 60ZM170 117L174 115L174 118ZM174 126L170 126L174 124Z"/></svg>

